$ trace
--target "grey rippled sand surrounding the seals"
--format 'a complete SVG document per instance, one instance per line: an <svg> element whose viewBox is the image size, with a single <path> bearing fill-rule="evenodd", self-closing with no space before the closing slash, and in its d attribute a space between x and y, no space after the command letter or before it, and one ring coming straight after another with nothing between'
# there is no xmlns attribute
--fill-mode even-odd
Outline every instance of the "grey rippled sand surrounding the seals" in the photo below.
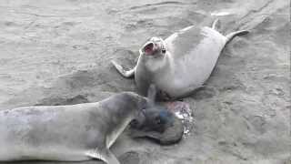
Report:
<svg viewBox="0 0 291 164"><path fill-rule="evenodd" d="M113 151L128 164L288 164L288 3L0 0L0 108L74 104L135 90L110 59L133 66L147 38L219 17L221 32L251 33L228 44L206 87L184 99L195 112L190 135L165 147L124 134Z"/></svg>

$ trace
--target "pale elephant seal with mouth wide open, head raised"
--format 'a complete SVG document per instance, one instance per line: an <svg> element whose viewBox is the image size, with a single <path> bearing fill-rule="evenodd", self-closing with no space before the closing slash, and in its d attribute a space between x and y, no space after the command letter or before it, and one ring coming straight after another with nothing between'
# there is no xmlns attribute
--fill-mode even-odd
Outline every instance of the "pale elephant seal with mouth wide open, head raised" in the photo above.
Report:
<svg viewBox="0 0 291 164"><path fill-rule="evenodd" d="M166 99L186 97L206 82L226 43L248 33L242 30L223 36L216 31L217 21L212 27L187 26L165 40L152 37L139 50L133 69L125 70L114 60L112 63L122 76L135 76L142 95L153 83Z"/></svg>

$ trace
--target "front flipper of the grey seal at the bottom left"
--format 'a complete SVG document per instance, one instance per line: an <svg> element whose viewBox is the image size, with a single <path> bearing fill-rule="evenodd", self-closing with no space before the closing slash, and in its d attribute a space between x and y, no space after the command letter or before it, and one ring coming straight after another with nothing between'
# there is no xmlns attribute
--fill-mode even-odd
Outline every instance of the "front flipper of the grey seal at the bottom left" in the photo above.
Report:
<svg viewBox="0 0 291 164"><path fill-rule="evenodd" d="M92 159L101 159L105 161L106 164L120 164L118 159L115 158L115 155L109 149L101 151L94 149L87 152L86 155Z"/></svg>

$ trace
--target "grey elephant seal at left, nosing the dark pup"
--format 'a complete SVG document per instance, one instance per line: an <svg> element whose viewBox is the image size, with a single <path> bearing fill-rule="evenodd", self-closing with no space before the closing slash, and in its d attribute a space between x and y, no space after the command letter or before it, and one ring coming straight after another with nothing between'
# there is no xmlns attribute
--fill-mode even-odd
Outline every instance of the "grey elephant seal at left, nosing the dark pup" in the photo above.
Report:
<svg viewBox="0 0 291 164"><path fill-rule="evenodd" d="M124 92L95 103L0 111L0 161L101 159L119 164L109 150L148 98Z"/></svg>

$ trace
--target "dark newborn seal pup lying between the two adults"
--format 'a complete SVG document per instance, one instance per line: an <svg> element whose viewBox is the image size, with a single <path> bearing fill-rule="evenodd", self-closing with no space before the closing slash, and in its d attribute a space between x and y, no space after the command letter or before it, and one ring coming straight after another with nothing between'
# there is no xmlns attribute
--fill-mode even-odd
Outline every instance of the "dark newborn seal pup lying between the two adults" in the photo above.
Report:
<svg viewBox="0 0 291 164"><path fill-rule="evenodd" d="M182 121L166 108L165 105L157 104L156 87L149 87L151 93L147 97L150 100L148 107L130 123L131 137L150 138L162 145L174 144L181 140L184 134Z"/></svg>

